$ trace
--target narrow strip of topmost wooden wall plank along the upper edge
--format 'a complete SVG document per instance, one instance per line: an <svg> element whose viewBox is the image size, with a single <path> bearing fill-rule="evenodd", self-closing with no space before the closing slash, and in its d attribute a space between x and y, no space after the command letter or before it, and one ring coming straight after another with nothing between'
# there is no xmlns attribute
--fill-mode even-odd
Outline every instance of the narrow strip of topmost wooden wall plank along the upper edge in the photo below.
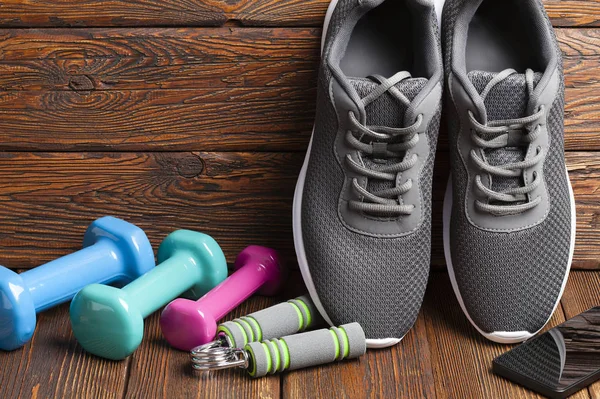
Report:
<svg viewBox="0 0 600 399"><path fill-rule="evenodd" d="M555 26L596 26L594 0L544 0ZM227 21L253 26L320 26L329 0L4 0L0 27L219 26Z"/></svg>

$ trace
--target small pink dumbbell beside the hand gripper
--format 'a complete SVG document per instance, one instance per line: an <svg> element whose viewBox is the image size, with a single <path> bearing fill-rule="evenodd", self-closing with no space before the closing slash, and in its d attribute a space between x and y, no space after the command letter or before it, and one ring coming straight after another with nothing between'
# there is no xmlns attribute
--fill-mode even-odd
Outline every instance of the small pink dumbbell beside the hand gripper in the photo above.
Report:
<svg viewBox="0 0 600 399"><path fill-rule="evenodd" d="M217 322L254 292L275 295L287 275L273 249L250 246L235 260L235 272L197 301L176 299L163 310L160 327L174 348L189 351L215 338Z"/></svg>

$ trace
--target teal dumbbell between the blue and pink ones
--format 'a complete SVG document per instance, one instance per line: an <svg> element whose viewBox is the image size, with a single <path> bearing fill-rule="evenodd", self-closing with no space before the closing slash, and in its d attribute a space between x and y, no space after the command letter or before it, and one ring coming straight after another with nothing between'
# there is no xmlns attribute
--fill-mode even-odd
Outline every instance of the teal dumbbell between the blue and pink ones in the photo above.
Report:
<svg viewBox="0 0 600 399"><path fill-rule="evenodd" d="M167 236L158 249L158 262L122 289L93 284L75 296L71 325L86 351L112 360L126 358L142 342L146 317L183 293L197 299L227 277L217 242L193 231Z"/></svg>

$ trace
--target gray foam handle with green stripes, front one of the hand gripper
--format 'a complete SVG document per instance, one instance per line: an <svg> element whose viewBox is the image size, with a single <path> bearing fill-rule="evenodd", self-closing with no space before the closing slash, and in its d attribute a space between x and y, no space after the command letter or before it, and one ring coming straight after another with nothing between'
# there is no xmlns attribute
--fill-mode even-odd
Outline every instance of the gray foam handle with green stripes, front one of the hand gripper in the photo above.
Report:
<svg viewBox="0 0 600 399"><path fill-rule="evenodd" d="M353 359L367 351L367 343L360 324L351 323L270 341L251 342L245 349L251 357L250 375L263 377L284 370Z"/></svg>

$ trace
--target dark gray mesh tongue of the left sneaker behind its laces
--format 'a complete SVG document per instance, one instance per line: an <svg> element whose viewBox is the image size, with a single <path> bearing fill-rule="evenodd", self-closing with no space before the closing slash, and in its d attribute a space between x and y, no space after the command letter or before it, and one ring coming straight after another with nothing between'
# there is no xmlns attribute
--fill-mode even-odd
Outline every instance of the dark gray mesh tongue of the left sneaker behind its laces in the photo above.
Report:
<svg viewBox="0 0 600 399"><path fill-rule="evenodd" d="M368 96L369 93L379 86L379 83L373 82L370 79L349 78L349 80L361 98ZM402 82L397 83L395 87L400 90L400 92L404 94L410 101L413 101L417 94L423 90L427 82L428 80L425 78L405 79ZM406 109L407 107L403 103L398 101L398 99L393 97L390 92L387 91L365 107L367 125L404 127L404 114L406 113ZM365 166L377 170L391 163L402 162L402 158L380 160L363 156L362 159ZM371 193L394 188L395 186L395 182L387 180L369 179L367 182L367 190Z"/></svg>

